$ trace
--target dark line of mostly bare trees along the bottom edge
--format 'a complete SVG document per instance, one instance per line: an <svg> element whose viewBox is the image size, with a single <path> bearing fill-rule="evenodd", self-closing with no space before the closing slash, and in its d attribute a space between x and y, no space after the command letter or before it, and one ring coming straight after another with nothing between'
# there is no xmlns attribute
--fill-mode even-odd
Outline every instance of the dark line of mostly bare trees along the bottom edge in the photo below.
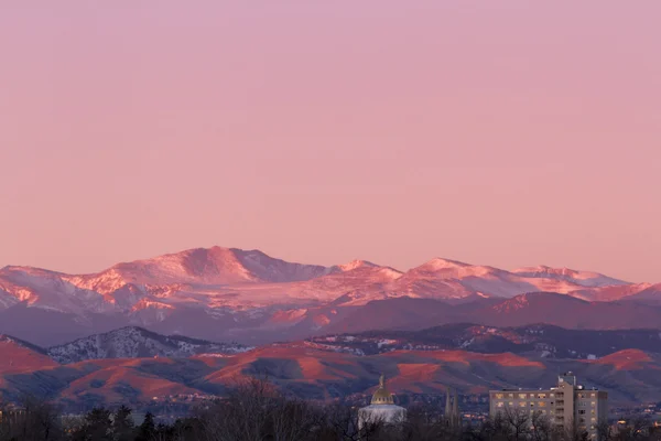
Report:
<svg viewBox="0 0 661 441"><path fill-rule="evenodd" d="M411 406L397 424L376 420L359 429L355 407L289 398L266 379L245 381L226 399L169 424L151 413L136 424L126 406L67 417L53 404L25 398L20 409L3 412L0 441L592 441L581 428L557 428L541 413L507 410L457 426L425 405ZM661 441L661 430L644 419L617 428L603 423L597 432L604 441Z"/></svg>

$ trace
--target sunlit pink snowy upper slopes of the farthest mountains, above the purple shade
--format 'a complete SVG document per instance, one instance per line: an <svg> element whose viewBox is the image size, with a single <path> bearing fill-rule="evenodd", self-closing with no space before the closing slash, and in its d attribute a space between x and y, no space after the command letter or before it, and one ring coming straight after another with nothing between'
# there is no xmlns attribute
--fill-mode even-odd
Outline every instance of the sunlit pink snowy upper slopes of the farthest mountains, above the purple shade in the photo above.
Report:
<svg viewBox="0 0 661 441"><path fill-rule="evenodd" d="M26 301L62 312L131 314L149 308L149 320L162 321L165 310L203 308L263 308L333 302L343 295L350 304L410 295L460 299L480 293L514 297L534 291L572 293L622 281L573 270L533 267L513 272L487 266L435 258L405 273L390 267L354 260L323 267L291 263L259 250L213 247L189 249L152 259L118 263L96 273L68 276L8 267L0 271L0 308ZM588 294L582 292L582 298ZM13 297L13 299L11 299ZM252 306L251 306L252 305ZM147 323L142 319L141 323Z"/></svg>

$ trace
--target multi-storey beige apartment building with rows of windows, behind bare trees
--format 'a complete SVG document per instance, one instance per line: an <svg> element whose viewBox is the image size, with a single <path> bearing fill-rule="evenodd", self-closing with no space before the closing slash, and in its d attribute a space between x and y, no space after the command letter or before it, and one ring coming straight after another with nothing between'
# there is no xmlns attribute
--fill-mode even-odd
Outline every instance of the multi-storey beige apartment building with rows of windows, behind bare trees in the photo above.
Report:
<svg viewBox="0 0 661 441"><path fill-rule="evenodd" d="M557 386L550 389L489 391L489 415L496 417L506 409L531 415L540 412L559 426L575 423L596 439L597 424L608 419L608 392L584 388L570 372L560 375Z"/></svg>

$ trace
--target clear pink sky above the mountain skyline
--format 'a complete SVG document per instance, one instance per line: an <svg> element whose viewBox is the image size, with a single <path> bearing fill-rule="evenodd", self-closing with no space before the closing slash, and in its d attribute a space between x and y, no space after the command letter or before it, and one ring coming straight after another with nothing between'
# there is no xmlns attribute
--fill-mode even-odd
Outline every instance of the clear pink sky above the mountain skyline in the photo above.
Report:
<svg viewBox="0 0 661 441"><path fill-rule="evenodd" d="M0 267L197 246L661 281L661 2L0 6Z"/></svg>

